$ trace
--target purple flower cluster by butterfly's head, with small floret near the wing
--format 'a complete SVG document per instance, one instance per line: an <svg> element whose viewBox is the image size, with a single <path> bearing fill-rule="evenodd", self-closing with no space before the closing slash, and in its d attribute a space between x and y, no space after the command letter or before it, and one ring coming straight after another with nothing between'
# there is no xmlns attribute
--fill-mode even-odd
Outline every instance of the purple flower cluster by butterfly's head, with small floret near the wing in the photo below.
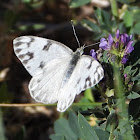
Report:
<svg viewBox="0 0 140 140"><path fill-rule="evenodd" d="M125 64L128 60L128 55L134 50L132 44L132 35L120 34L120 31L117 30L115 38L111 34L109 34L108 39L101 38L99 47L119 57L121 63ZM91 56L95 59L97 58L94 50L91 50Z"/></svg>

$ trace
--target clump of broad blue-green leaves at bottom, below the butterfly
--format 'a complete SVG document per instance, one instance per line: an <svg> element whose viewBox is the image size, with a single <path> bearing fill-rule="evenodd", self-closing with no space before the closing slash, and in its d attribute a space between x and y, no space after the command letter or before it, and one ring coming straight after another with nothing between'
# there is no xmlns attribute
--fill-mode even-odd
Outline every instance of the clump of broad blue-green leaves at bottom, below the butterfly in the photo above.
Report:
<svg viewBox="0 0 140 140"><path fill-rule="evenodd" d="M54 124L54 128L55 134L50 136L52 140L56 140L57 138L58 140L108 140L109 138L108 132L98 127L91 127L80 113L77 117L76 114L70 112L68 120L57 120Z"/></svg>

